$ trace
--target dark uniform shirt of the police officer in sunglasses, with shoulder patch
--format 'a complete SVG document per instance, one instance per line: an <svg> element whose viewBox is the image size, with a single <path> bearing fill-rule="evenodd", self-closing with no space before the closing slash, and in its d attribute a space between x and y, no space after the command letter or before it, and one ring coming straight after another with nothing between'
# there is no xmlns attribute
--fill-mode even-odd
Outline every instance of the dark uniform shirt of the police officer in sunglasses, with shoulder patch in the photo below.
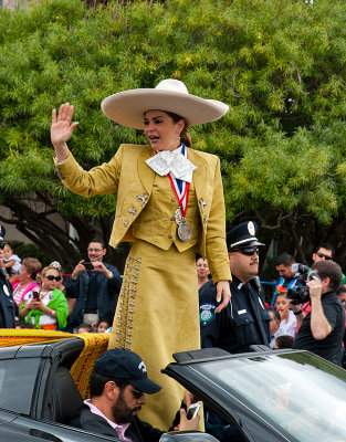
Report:
<svg viewBox="0 0 346 442"><path fill-rule="evenodd" d="M210 280L199 291L200 333L202 348L219 347L229 352L249 351L251 345L270 344L270 316L259 290L235 276L230 283L231 299L214 313L217 287Z"/></svg>

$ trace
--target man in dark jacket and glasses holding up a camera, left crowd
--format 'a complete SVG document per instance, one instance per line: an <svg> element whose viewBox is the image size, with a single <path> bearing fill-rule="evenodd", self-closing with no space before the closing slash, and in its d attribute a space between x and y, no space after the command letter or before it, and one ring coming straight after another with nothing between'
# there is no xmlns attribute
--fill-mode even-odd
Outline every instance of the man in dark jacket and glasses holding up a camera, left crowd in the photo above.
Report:
<svg viewBox="0 0 346 442"><path fill-rule="evenodd" d="M66 280L65 296L72 309L67 330L81 323L94 324L101 317L114 317L117 296L122 285L118 270L106 262L106 248L102 240L93 239L87 246L90 261L82 260Z"/></svg>

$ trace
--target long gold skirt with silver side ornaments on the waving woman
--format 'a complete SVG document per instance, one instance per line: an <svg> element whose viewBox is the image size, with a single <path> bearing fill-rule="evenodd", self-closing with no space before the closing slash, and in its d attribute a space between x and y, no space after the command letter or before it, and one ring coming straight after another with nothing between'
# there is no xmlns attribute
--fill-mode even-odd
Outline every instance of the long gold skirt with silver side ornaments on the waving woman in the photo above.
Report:
<svg viewBox="0 0 346 442"><path fill-rule="evenodd" d="M126 261L109 348L138 354L148 377L162 389L146 394L141 420L168 430L180 408L184 388L160 370L172 354L200 348L196 252L161 250L136 240Z"/></svg>

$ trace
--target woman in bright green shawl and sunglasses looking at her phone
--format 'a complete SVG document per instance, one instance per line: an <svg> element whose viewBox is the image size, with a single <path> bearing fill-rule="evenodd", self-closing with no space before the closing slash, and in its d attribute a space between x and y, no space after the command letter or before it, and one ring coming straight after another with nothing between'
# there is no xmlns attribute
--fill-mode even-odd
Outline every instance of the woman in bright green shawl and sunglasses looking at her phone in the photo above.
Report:
<svg viewBox="0 0 346 442"><path fill-rule="evenodd" d="M24 296L20 317L35 328L44 330L66 327L69 308L64 294L56 288L61 281L59 271L53 266L44 267L41 280L41 288L33 290Z"/></svg>

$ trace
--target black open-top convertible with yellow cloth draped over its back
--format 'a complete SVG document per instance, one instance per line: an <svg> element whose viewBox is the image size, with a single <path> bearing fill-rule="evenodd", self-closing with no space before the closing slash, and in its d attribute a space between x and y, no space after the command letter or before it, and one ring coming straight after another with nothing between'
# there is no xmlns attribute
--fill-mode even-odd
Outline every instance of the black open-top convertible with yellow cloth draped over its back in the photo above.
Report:
<svg viewBox="0 0 346 442"><path fill-rule="evenodd" d="M114 441L66 424L88 394L90 373L107 340L106 334L0 330L0 441ZM205 349L174 356L162 372L220 417L222 441L346 442L345 370L307 351L261 347L243 355ZM202 432L161 440L216 441Z"/></svg>

